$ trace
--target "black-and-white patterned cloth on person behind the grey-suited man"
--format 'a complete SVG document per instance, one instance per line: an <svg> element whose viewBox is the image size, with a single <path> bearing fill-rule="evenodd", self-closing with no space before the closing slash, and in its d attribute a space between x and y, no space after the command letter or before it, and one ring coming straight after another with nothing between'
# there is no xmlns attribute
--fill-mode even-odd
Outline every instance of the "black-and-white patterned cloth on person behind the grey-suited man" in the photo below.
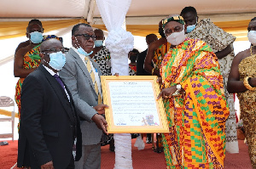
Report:
<svg viewBox="0 0 256 169"><path fill-rule="evenodd" d="M103 76L111 76L111 57L108 48L103 46L92 59L99 65Z"/></svg>

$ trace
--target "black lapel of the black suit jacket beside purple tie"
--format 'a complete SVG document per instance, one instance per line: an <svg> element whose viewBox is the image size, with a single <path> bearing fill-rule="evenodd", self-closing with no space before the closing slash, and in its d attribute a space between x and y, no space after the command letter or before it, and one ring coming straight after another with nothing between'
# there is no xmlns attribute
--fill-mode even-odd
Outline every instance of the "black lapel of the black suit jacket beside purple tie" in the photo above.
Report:
<svg viewBox="0 0 256 169"><path fill-rule="evenodd" d="M53 88L53 90L55 91L55 94L56 96L58 97L58 99L60 100L64 110L66 111L67 115L69 116L70 120L71 121L74 121L74 117L73 115L67 111L67 106L69 106L69 103L68 102L68 99L67 99L67 94L65 93L65 91L63 90L63 88L61 87L61 85L59 84L59 82L57 82L55 80L55 77L54 76L51 76L49 74L49 72L47 70L44 69L44 66L43 65L39 65L38 69L40 69L41 71L43 71L44 73L44 76L46 77L47 81L49 82L49 85ZM65 85L65 83L63 82L63 84ZM66 85L65 85L66 87ZM69 95L71 96L71 95ZM66 99L63 99L66 98Z"/></svg>

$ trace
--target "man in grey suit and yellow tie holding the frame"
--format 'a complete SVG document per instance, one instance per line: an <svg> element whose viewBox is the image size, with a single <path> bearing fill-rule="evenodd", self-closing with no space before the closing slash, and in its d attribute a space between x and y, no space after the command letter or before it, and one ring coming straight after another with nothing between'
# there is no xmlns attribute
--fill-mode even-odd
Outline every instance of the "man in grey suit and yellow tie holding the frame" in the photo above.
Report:
<svg viewBox="0 0 256 169"><path fill-rule="evenodd" d="M98 65L90 59L96 37L87 24L73 26L72 45L67 62L60 71L61 79L73 96L75 109L81 120L83 151L81 160L75 162L77 169L101 168L102 131L107 133L107 121L101 115L108 105L102 104L102 89Z"/></svg>

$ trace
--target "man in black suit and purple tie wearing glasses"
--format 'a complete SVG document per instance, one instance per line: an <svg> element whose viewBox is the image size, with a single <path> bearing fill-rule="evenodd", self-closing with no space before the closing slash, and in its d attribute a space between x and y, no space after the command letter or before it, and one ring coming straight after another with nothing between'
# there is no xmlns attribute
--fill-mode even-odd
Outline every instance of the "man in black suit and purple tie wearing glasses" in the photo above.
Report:
<svg viewBox="0 0 256 169"><path fill-rule="evenodd" d="M26 77L21 89L17 166L71 169L75 138L76 160L81 156L81 131L72 94L58 76L66 51L60 41L49 39L40 52L41 65Z"/></svg>

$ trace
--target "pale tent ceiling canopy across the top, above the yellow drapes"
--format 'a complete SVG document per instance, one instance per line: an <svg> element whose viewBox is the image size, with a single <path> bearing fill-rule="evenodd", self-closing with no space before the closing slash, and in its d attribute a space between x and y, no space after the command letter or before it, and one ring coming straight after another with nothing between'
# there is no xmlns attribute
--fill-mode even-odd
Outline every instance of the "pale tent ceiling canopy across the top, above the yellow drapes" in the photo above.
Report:
<svg viewBox="0 0 256 169"><path fill-rule="evenodd" d="M215 16L215 21L237 20L236 17L249 20L256 16L255 0L132 0L126 14L130 22L128 20L126 24L138 25L143 20L148 24L152 18L159 20L169 14L179 14L186 6L194 6L201 18ZM88 22L102 24L98 20L101 15L95 0L0 0L0 21L32 18L84 18Z"/></svg>

